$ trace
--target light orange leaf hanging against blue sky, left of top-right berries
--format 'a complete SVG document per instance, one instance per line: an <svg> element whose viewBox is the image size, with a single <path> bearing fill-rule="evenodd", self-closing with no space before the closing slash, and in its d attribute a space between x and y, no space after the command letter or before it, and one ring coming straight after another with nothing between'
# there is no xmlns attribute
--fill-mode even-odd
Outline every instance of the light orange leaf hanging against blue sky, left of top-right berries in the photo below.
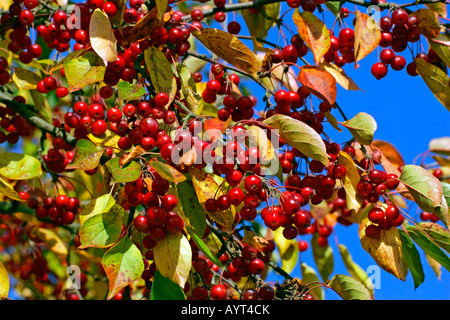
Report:
<svg viewBox="0 0 450 320"><path fill-rule="evenodd" d="M355 12L355 63L366 57L378 47L381 32L372 17L360 11Z"/></svg>

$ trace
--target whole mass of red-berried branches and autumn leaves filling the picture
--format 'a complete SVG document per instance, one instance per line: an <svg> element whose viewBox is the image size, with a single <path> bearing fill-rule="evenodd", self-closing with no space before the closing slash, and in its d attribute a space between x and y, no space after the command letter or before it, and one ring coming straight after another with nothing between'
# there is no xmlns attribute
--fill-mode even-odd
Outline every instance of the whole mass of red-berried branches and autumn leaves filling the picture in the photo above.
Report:
<svg viewBox="0 0 450 320"><path fill-rule="evenodd" d="M405 163L337 94L371 54L450 111L446 1L0 7L0 298L374 299L343 244L334 274L338 224L415 287L419 250L450 270L450 137Z"/></svg>

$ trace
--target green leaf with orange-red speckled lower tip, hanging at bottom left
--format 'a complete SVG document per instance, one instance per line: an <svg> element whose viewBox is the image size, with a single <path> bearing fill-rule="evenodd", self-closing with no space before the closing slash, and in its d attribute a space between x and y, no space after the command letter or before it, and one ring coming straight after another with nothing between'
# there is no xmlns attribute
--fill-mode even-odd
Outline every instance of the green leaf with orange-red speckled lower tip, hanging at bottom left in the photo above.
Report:
<svg viewBox="0 0 450 320"><path fill-rule="evenodd" d="M125 236L103 255L102 266L109 281L109 300L141 277L144 258L138 247Z"/></svg>

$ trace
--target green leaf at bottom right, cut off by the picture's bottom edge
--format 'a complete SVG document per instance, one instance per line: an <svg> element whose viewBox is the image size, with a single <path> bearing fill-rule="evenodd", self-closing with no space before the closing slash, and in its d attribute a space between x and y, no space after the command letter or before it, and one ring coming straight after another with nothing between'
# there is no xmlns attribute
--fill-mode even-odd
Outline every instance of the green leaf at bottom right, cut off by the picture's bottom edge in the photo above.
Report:
<svg viewBox="0 0 450 320"><path fill-rule="evenodd" d="M372 300L369 290L361 282L346 275L335 275L328 286L344 300Z"/></svg>

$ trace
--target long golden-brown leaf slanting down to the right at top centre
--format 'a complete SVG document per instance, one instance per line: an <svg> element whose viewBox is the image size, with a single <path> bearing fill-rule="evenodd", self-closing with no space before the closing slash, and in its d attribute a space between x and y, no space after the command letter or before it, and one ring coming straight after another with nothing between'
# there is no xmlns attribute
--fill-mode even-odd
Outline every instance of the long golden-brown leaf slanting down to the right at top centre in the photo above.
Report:
<svg viewBox="0 0 450 320"><path fill-rule="evenodd" d="M212 53L226 62L252 77L257 76L258 61L256 55L234 35L212 28L196 30L193 35Z"/></svg>

